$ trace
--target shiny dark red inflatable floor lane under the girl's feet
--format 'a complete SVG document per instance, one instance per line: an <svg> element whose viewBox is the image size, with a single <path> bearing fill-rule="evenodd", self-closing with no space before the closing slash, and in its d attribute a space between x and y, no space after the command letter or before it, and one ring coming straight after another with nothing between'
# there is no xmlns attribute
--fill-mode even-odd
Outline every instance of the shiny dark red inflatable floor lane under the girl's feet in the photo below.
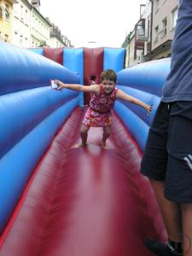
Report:
<svg viewBox="0 0 192 256"><path fill-rule="evenodd" d="M100 128L90 130L87 148L71 148L80 119L76 109L37 167L1 256L153 256L143 241L165 238L141 157L119 120L103 150Z"/></svg>

